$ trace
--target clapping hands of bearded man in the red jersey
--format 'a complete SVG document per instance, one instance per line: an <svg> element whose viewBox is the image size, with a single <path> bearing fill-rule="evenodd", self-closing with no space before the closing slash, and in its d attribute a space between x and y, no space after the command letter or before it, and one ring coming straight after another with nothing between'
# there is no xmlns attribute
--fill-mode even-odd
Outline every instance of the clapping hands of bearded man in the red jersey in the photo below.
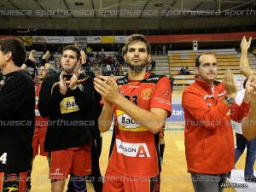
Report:
<svg viewBox="0 0 256 192"><path fill-rule="evenodd" d="M106 101L115 104L120 94L119 86L114 79L101 75L99 78L94 79L94 85L96 91L101 94Z"/></svg>

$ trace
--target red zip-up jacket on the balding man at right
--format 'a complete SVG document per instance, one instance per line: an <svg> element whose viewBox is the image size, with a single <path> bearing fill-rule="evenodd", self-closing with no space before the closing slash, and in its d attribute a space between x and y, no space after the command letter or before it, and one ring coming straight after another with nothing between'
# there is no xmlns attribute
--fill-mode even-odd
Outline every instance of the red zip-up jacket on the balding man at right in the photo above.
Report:
<svg viewBox="0 0 256 192"><path fill-rule="evenodd" d="M229 108L221 102L224 84L214 82L214 96L206 82L195 83L183 91L185 148L189 172L221 174L234 167L234 137L230 120L241 121L249 105L242 102Z"/></svg>

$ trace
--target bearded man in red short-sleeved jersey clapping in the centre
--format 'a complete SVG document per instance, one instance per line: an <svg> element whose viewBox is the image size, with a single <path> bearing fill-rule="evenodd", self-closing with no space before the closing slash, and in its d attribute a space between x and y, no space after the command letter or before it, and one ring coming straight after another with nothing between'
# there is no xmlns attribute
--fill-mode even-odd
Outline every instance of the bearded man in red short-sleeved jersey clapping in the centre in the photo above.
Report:
<svg viewBox="0 0 256 192"><path fill-rule="evenodd" d="M113 138L103 191L159 191L160 159L157 134L171 115L171 84L166 76L146 72L150 47L143 35L125 44L128 74L115 82L94 81L102 95L99 129L108 131L114 113Z"/></svg>

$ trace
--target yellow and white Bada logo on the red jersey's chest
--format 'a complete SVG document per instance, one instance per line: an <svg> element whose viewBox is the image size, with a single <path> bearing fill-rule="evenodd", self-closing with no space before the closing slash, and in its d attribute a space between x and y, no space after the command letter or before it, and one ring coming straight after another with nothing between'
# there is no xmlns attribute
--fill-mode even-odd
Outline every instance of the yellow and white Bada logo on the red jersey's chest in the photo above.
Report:
<svg viewBox="0 0 256 192"><path fill-rule="evenodd" d="M119 130L123 131L148 131L147 128L138 124L134 119L121 110L116 110Z"/></svg>

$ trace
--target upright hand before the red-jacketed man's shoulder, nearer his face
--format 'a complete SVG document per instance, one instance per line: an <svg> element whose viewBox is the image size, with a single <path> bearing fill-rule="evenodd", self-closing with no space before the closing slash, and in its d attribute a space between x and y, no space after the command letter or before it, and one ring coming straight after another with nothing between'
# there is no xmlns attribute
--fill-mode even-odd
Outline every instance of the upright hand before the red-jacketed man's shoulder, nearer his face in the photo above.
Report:
<svg viewBox="0 0 256 192"><path fill-rule="evenodd" d="M225 86L225 90L227 91L227 96L235 98L237 93L236 83L230 69L228 69L227 73L224 75L223 84Z"/></svg>

